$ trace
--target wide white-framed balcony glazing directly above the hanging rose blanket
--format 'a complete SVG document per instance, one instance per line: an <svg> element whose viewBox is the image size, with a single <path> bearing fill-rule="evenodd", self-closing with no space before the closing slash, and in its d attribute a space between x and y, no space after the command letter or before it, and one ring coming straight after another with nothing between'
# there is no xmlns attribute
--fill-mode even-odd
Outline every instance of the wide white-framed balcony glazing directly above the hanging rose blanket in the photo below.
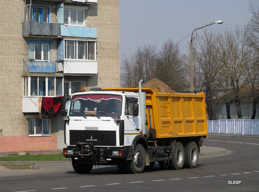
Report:
<svg viewBox="0 0 259 192"><path fill-rule="evenodd" d="M25 82L24 96L62 96L63 95L62 94L63 77L24 76L24 82Z"/></svg>

